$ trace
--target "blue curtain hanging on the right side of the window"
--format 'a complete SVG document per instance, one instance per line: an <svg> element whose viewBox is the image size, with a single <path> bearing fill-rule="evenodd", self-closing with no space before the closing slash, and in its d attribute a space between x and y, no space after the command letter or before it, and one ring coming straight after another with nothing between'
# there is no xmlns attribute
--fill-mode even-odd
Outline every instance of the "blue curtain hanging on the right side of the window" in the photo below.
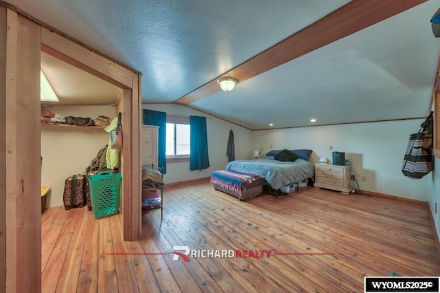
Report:
<svg viewBox="0 0 440 293"><path fill-rule="evenodd" d="M190 170L209 168L206 117L190 116Z"/></svg>

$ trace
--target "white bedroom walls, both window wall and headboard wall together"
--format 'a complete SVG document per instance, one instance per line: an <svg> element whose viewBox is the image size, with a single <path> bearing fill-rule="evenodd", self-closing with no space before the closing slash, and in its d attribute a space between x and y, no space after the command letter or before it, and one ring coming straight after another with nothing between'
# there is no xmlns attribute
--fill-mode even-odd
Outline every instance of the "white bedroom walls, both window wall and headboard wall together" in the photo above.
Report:
<svg viewBox="0 0 440 293"><path fill-rule="evenodd" d="M432 197L439 196L440 179L437 179L437 184L431 184L431 174L420 180L412 180L401 173L409 135L419 131L419 125L423 120L250 131L189 107L166 104L142 106L144 109L175 115L208 117L210 168L206 171L189 171L189 163L167 164L167 174L164 176L166 183L208 177L212 171L224 169L228 163L226 144L229 131L232 129L236 159L250 158L254 150L261 150L264 154L271 149L287 148L312 149L314 153L311 160L318 162L319 158L327 158L331 162L332 152L342 151L346 153L360 189L364 191L423 202L434 201ZM329 150L330 145L333 146L333 150ZM366 182L361 181L362 176L366 177Z"/></svg>

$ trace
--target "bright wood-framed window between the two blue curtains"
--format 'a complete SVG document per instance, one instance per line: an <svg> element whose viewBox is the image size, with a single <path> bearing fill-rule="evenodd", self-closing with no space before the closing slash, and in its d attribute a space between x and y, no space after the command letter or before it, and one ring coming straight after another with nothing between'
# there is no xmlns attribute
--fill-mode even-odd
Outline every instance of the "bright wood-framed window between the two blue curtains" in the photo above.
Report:
<svg viewBox="0 0 440 293"><path fill-rule="evenodd" d="M190 124L188 117L166 116L166 159L173 162L176 159L190 156ZM168 160L170 159L170 160ZM181 160L180 160L181 161Z"/></svg>

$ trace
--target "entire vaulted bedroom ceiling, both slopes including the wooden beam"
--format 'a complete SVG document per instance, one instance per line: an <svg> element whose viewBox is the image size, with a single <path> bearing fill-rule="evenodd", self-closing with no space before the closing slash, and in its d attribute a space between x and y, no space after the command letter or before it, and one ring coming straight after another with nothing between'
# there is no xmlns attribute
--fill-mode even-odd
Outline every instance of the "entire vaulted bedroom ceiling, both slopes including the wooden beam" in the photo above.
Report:
<svg viewBox="0 0 440 293"><path fill-rule="evenodd" d="M426 116L440 56L440 0L6 2L142 72L144 103L249 129Z"/></svg>

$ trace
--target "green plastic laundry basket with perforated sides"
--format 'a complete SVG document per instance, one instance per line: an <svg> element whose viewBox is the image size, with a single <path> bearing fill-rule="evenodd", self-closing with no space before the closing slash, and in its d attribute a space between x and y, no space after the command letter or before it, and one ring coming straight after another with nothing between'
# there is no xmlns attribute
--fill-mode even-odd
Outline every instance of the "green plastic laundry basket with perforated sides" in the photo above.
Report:
<svg viewBox="0 0 440 293"><path fill-rule="evenodd" d="M89 177L91 208L95 219L109 217L119 213L120 173L101 171Z"/></svg>

